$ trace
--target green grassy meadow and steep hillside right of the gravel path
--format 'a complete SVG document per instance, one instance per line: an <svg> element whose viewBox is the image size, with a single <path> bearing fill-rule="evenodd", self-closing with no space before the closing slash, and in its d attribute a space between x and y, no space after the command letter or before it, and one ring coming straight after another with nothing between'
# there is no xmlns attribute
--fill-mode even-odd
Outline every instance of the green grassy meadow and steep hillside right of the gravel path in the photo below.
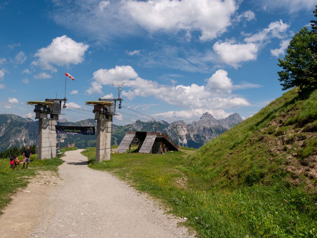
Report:
<svg viewBox="0 0 317 238"><path fill-rule="evenodd" d="M198 150L114 154L111 171L186 217L199 237L317 237L317 92L297 89Z"/></svg>

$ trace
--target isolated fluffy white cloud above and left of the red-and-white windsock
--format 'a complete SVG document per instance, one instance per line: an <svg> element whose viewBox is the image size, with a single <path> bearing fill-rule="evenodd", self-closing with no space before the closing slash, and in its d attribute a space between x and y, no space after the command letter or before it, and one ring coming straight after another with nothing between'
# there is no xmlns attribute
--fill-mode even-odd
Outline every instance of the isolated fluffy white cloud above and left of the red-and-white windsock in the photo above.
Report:
<svg viewBox="0 0 317 238"><path fill-rule="evenodd" d="M42 69L56 72L57 69L51 64L57 66L79 64L84 60L84 55L88 47L89 46L84 43L75 42L66 35L56 37L49 46L37 51L34 56L39 57L39 59L33 61L32 65L41 66Z"/></svg>

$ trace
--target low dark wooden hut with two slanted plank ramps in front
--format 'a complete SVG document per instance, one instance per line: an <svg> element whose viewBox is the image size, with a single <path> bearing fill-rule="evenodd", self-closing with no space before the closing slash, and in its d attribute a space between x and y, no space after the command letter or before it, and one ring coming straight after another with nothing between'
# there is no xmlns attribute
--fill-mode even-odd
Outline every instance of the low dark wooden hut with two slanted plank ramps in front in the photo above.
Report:
<svg viewBox="0 0 317 238"><path fill-rule="evenodd" d="M131 144L137 144L139 153L161 154L166 151L179 151L178 145L163 132L126 132L118 146L117 153L125 153Z"/></svg>

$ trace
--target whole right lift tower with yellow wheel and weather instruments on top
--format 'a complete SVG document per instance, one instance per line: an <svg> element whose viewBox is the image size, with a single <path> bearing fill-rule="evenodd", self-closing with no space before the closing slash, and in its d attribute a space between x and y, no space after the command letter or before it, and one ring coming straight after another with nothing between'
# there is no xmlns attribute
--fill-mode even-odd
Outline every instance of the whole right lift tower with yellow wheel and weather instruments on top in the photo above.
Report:
<svg viewBox="0 0 317 238"><path fill-rule="evenodd" d="M87 101L86 105L94 106L93 113L97 121L96 137L96 161L110 160L111 158L111 134L113 115L116 115L116 103L119 101L119 108L123 99L120 97L121 86L118 86L118 98L99 98L98 101Z"/></svg>

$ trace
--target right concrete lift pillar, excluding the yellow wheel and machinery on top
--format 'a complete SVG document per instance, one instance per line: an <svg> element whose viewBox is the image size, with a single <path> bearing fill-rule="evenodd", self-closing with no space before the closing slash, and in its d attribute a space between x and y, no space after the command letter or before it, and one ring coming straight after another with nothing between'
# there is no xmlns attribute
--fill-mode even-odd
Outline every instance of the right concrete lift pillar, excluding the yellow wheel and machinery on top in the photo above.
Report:
<svg viewBox="0 0 317 238"><path fill-rule="evenodd" d="M97 120L96 161L110 160L112 115L95 112Z"/></svg>

